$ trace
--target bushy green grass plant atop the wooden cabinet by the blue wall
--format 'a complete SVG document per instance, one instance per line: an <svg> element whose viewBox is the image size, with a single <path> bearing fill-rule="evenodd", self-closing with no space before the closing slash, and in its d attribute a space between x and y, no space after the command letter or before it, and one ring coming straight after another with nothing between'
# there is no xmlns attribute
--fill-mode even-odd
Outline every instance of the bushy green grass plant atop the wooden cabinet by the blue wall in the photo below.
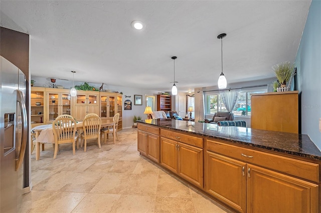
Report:
<svg viewBox="0 0 321 213"><path fill-rule="evenodd" d="M286 87L286 82L289 81L292 76L294 64L290 61L285 61L274 65L272 68L277 80L281 84L281 88Z"/></svg>

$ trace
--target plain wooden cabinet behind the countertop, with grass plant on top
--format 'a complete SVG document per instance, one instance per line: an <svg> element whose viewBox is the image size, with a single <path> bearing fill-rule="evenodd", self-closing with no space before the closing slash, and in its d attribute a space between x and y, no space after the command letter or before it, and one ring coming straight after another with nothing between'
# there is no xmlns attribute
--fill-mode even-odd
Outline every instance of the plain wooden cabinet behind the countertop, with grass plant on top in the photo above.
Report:
<svg viewBox="0 0 321 213"><path fill-rule="evenodd" d="M251 128L298 133L298 91L251 96Z"/></svg>

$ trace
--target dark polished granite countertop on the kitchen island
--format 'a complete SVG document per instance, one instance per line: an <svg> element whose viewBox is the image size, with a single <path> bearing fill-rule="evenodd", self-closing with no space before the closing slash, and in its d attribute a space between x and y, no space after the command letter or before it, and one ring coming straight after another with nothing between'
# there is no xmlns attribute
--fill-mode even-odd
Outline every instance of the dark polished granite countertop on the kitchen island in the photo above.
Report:
<svg viewBox="0 0 321 213"><path fill-rule="evenodd" d="M137 122L297 155L309 159L321 160L321 151L306 134L268 131L237 126L218 126L214 123L165 118L138 120Z"/></svg>

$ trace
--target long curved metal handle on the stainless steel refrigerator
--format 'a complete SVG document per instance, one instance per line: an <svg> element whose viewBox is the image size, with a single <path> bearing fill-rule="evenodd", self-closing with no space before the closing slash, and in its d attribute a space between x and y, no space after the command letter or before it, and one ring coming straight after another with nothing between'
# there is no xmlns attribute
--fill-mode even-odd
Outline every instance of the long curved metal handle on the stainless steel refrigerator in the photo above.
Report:
<svg viewBox="0 0 321 213"><path fill-rule="evenodd" d="M26 146L27 146L27 135L28 135L28 122L27 122L27 108L24 100L22 91L17 91L17 102L19 102L19 107L21 110L21 120L22 120L22 140L19 157L16 159L16 170L21 166L24 161Z"/></svg>

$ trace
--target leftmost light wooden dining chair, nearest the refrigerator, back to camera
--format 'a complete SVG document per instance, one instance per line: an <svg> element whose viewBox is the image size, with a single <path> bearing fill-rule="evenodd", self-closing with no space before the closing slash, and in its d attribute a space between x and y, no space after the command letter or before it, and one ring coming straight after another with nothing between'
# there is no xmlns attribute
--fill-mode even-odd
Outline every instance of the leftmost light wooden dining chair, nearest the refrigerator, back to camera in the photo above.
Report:
<svg viewBox="0 0 321 213"><path fill-rule="evenodd" d="M72 151L75 155L75 143L78 138L76 121L70 117L57 117L52 123L52 130L55 136L54 159L57 157L59 144L62 143L72 143Z"/></svg>

